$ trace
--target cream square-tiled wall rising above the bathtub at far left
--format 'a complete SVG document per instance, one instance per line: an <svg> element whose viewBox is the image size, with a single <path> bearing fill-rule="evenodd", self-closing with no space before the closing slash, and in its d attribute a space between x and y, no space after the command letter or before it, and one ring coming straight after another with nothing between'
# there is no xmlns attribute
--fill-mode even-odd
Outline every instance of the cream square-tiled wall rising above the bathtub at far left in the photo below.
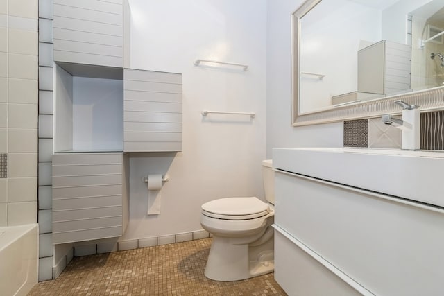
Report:
<svg viewBox="0 0 444 296"><path fill-rule="evenodd" d="M0 0L0 226L37 222L37 15Z"/></svg>

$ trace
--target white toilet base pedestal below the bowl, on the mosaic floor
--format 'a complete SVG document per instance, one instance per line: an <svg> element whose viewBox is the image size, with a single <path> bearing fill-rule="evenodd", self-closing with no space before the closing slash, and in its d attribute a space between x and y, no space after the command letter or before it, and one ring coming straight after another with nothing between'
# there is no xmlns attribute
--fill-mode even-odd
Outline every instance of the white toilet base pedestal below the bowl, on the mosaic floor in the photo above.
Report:
<svg viewBox="0 0 444 296"><path fill-rule="evenodd" d="M216 281L239 281L273 272L274 240L257 246L236 245L235 238L213 237L205 277Z"/></svg>

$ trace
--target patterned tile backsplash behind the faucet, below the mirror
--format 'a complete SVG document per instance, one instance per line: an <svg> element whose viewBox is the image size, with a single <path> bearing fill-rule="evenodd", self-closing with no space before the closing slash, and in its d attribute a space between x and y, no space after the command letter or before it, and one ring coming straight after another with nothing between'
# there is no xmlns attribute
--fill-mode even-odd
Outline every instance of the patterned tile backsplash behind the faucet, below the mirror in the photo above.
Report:
<svg viewBox="0 0 444 296"><path fill-rule="evenodd" d="M382 123L380 118L344 121L343 134L344 147L400 149L402 145L401 130ZM420 148L444 150L444 111L421 113Z"/></svg>

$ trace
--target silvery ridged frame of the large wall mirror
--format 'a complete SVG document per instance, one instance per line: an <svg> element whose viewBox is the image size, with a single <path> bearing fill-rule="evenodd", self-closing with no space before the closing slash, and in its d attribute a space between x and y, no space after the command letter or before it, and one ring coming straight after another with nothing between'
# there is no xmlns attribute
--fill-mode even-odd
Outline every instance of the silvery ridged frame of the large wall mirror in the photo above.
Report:
<svg viewBox="0 0 444 296"><path fill-rule="evenodd" d="M401 114L402 110L394 102L406 101L419 105L420 111L444 110L444 87L434 87L417 92L377 98L371 101L350 103L336 107L328 106L321 110L305 112L300 110L300 19L322 0L307 0L291 14L291 125L314 125L338 121L367 119L384 114Z"/></svg>

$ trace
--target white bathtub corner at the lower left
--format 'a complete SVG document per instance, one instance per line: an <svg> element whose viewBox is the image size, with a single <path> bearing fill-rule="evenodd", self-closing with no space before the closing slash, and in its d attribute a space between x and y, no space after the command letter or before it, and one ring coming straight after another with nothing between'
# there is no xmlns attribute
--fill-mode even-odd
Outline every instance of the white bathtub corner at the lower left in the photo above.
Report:
<svg viewBox="0 0 444 296"><path fill-rule="evenodd" d="M37 283L38 225L0 227L0 294L26 295Z"/></svg>

